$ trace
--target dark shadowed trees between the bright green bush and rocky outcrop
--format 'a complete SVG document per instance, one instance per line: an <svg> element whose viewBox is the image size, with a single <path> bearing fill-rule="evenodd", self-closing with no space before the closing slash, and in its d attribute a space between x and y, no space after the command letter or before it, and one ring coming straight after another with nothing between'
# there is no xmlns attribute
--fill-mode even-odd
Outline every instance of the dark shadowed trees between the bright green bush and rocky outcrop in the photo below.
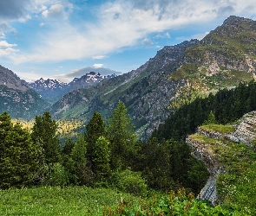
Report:
<svg viewBox="0 0 256 216"><path fill-rule="evenodd" d="M198 194L207 181L207 168L191 156L187 143L159 143L153 138L142 143L141 155L142 176L154 189L166 191L183 185Z"/></svg>

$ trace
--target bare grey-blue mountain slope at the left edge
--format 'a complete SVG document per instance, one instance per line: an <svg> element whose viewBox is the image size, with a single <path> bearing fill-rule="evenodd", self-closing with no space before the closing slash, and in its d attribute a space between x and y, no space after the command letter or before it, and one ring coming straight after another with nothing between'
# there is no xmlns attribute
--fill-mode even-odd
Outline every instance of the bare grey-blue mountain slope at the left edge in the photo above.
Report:
<svg viewBox="0 0 256 216"><path fill-rule="evenodd" d="M15 73L0 66L0 113L8 111L12 118L35 118L49 104L25 85Z"/></svg>

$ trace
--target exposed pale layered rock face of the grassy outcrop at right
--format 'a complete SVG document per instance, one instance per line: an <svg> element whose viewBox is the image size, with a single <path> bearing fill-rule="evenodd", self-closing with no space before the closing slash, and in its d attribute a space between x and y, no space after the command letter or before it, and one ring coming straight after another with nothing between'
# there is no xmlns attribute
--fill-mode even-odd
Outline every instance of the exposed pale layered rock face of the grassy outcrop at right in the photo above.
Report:
<svg viewBox="0 0 256 216"><path fill-rule="evenodd" d="M203 135L204 137L210 137L219 140L218 144L226 146L221 142L221 139L228 139L236 143L246 143L251 145L252 141L256 139L256 111L247 113L240 119L238 124L233 125L234 132L230 134L221 134L217 131L204 130L198 128L197 134ZM216 155L207 148L208 143L202 143L198 140L194 140L192 137L187 137L187 144L193 149L193 156L198 160L204 162L210 173L210 177L205 187L202 188L199 194L199 198L212 201L213 204L218 204L218 197L216 193L216 177L220 173L225 173L226 170L223 168L216 158Z"/></svg>

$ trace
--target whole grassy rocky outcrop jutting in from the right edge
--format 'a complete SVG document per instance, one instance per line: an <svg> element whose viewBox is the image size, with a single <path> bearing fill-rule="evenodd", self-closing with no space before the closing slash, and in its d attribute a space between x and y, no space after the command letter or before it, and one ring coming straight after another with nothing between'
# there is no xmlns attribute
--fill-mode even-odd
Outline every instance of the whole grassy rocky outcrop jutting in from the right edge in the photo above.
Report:
<svg viewBox="0 0 256 216"><path fill-rule="evenodd" d="M196 134L187 137L194 156L203 161L210 172L200 199L214 204L220 202L240 213L255 213L255 128L256 112L252 111L236 124L202 125Z"/></svg>

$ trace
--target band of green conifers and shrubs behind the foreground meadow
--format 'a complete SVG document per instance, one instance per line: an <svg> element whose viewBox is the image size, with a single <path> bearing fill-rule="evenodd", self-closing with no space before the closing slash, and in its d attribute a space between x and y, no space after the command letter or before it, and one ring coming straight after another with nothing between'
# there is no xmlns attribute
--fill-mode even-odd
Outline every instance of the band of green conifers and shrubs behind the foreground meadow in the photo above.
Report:
<svg viewBox="0 0 256 216"><path fill-rule="evenodd" d="M57 123L48 111L36 116L31 132L0 115L0 187L104 186L133 194L148 187L177 187L198 193L207 180L205 166L186 143L174 139L137 139L124 103L108 117L94 112L86 130L61 146Z"/></svg>

